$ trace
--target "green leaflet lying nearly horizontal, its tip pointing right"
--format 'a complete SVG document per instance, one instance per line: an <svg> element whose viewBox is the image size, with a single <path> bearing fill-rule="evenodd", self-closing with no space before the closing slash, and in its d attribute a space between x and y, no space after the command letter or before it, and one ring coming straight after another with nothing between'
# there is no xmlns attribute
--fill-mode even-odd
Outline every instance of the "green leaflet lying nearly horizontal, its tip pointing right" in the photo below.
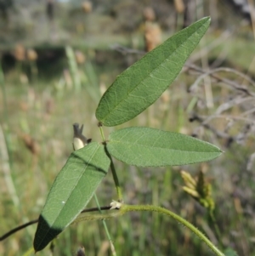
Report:
<svg viewBox="0 0 255 256"><path fill-rule="evenodd" d="M205 162L222 153L200 139L154 128L123 128L110 134L109 139L106 147L112 156L140 167Z"/></svg>

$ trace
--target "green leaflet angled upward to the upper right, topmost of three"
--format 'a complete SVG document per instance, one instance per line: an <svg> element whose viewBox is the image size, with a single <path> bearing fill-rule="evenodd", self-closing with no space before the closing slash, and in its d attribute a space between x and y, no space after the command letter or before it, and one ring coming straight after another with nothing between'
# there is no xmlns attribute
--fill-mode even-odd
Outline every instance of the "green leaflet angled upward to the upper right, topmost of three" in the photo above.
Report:
<svg viewBox="0 0 255 256"><path fill-rule="evenodd" d="M178 76L209 24L209 17L198 20L123 71L99 102L99 122L116 126L154 103Z"/></svg>

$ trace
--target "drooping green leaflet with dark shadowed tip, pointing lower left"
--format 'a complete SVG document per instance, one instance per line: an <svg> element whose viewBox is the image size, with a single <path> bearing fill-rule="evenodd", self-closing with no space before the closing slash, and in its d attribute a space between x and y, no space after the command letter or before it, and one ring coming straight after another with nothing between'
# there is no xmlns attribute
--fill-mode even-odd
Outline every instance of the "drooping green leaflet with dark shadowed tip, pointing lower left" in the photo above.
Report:
<svg viewBox="0 0 255 256"><path fill-rule="evenodd" d="M34 239L40 251L71 224L86 207L107 174L110 159L104 145L90 143L74 151L54 180L42 209Z"/></svg>

